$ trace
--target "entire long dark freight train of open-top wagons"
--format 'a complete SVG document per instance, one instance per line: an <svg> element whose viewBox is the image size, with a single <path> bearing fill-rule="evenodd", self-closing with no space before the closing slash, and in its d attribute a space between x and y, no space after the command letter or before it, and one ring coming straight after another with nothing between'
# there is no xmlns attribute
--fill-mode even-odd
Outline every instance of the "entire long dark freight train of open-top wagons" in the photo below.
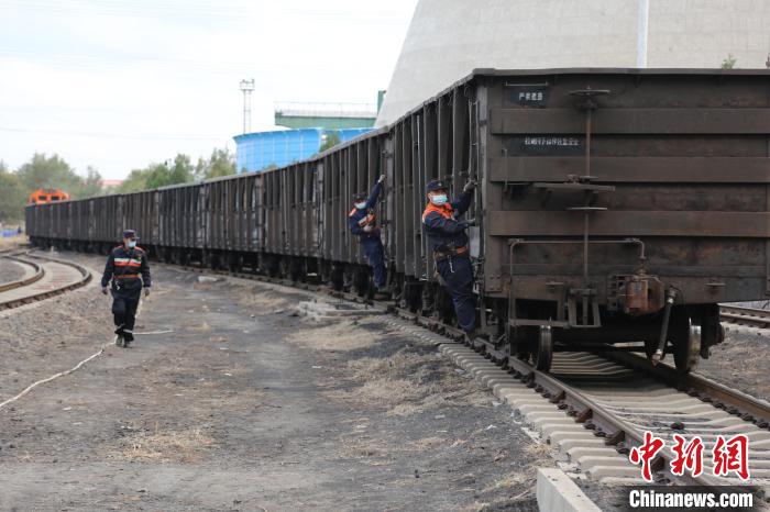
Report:
<svg viewBox="0 0 770 512"><path fill-rule="evenodd" d="M28 207L36 246L106 253L139 231L156 258L370 291L346 229L377 205L402 307L453 321L421 230L424 187L468 213L481 335L495 358L554 350L672 356L723 341L718 302L770 293L770 74L479 69L389 126L283 168ZM656 354L657 353L657 354Z"/></svg>

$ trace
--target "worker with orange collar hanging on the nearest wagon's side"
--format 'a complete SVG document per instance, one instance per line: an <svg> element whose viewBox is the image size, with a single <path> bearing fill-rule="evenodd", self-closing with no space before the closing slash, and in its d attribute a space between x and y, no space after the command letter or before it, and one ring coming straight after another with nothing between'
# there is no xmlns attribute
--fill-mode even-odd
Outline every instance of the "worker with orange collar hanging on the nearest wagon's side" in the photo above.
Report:
<svg viewBox="0 0 770 512"><path fill-rule="evenodd" d="M422 225L433 251L436 270L452 296L458 324L470 340L476 334L476 301L465 229L475 225L475 220L460 218L470 208L475 187L476 182L470 180L462 193L450 201L447 185L433 179L426 186L428 204L422 212Z"/></svg>

